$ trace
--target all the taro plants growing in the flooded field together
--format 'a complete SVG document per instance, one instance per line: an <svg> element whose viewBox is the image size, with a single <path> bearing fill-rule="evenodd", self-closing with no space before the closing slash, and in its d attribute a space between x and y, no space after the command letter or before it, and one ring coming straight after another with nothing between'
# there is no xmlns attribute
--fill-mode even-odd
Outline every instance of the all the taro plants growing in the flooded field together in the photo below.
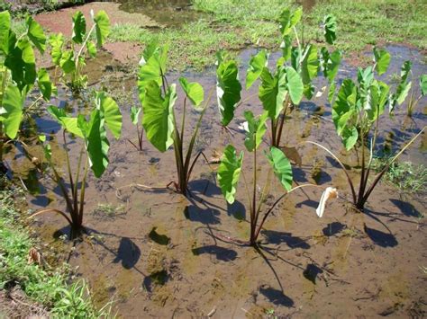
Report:
<svg viewBox="0 0 427 319"><path fill-rule="evenodd" d="M79 92L86 87L87 83L87 76L84 75L85 58L95 57L95 48L104 44L109 33L109 20L104 12L92 13L93 25L86 32L85 17L82 13L77 12L73 16L71 40L67 41L61 34L58 34L51 36L48 41L40 25L32 18L28 18L28 31L19 40L16 40L13 32L10 31L8 13L1 14L0 40L7 40L8 45L0 48L5 56L3 63L5 72L2 77L5 89L2 91L2 104L0 104L0 123L2 125L0 135L5 134L12 139L16 137L20 129L25 94L30 91L32 85L38 85L41 98L46 100L49 100L51 93L56 92L55 85L50 83L49 75L45 70L37 73L35 63L31 66L28 65L30 59L27 53L32 52L33 46L43 53L49 42L50 56L56 66L55 83L57 72L60 71L61 82L68 84L73 92ZM313 98L316 92L314 86L316 77L323 75L328 81L328 99L332 104L332 120L343 145L347 151L355 149L361 158L359 191L356 187L358 186L357 181L350 178L346 166L331 150L314 141L304 141L301 144L321 147L338 161L348 178L354 207L359 211L363 211L370 194L389 167L424 130L422 128L386 163L385 167L377 173L374 181L369 183L370 173L373 171L372 159L379 134L379 119L385 113L387 105L389 114L393 115L395 108L402 105L410 93L412 87L409 77L411 63L410 61L404 63L398 84L392 88L376 78L386 72L391 58L385 49L376 48L374 49L373 65L359 68L357 82L345 79L340 87L337 87L335 77L338 74L342 54L340 50L334 49L337 38L336 19L332 14L323 18L322 30L327 46L319 48L314 43L304 41L302 15L302 8L298 8L295 11L286 9L278 17L282 57L274 66L269 66L269 54L265 49L259 50L259 53L250 59L244 86L248 90L259 80L258 96L263 108L262 114L259 115L254 115L250 110L244 111L246 120L243 124L244 146L252 154L252 184L248 183L243 172L244 152L239 153L232 144L225 146L221 163L217 169L219 186L228 203L235 200L240 177L241 175L244 177L250 211L250 239L247 242L250 245L257 245L260 230L280 200L292 191L314 186L312 184L293 185L291 161L301 164L302 159L296 146L289 146L288 141L282 140L282 136L289 114L298 107L303 97L308 100ZM16 56L18 59L12 60L9 55ZM15 63L14 61L22 62ZM151 43L144 49L139 66L137 86L141 105L132 107L131 110L131 120L138 133L138 143L133 145L142 150L142 134L145 131L147 140L159 152L166 152L173 147L177 180L169 182L168 187L173 184L175 191L185 196L191 196L188 185L195 163L200 156L206 159L202 151L195 152L195 141L213 90L207 94L205 99L204 88L201 84L192 83L185 77L180 77L178 82L183 96L179 98L183 100L183 112L181 119L177 119L177 84L168 83L167 72L168 46L159 46L156 42ZM420 84L423 96L427 92L425 75L422 75ZM227 132L230 131L228 126L234 119L235 111L243 104L241 101L243 87L239 78L238 63L223 52L217 54L215 89L219 120L224 128L223 131ZM414 94L411 93L412 100ZM75 229L83 227L85 187L89 168L95 177L100 177L104 173L108 164L109 150L107 130L115 138L119 138L122 128L122 115L112 98L104 92L99 92L95 93L93 100L93 107L77 116L69 115L63 109L54 106L48 107L52 118L57 120L63 129L63 144L67 155L68 172L66 176L62 176L53 164L51 149L46 143L47 138L40 137L47 164L52 172L51 177L59 185L66 201L68 214L56 209L44 209L35 215L54 211L66 217L69 224ZM17 101L19 101L19 105ZM186 142L188 104L191 104L199 115L195 127L191 129L190 138ZM19 120L15 120L17 118ZM267 132L268 141L264 138ZM77 171L74 173L68 155L70 152L68 136L82 140L78 152ZM3 140L4 138L2 138ZM266 185L259 192L258 156L261 145L266 145L263 153L268 160L269 169L266 174ZM265 208L270 191L270 179L273 175L283 187L283 194L275 199L272 205ZM67 183L66 179L68 179ZM67 185L69 185L69 189ZM319 217L323 216L326 200L335 197L337 197L337 191L331 187L323 192L317 209Z"/></svg>

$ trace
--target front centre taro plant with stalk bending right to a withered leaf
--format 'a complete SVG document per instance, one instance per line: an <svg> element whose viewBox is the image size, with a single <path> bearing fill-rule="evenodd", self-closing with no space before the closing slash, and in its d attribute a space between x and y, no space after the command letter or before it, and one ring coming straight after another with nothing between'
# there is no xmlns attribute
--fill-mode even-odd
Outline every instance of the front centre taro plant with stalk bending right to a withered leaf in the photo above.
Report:
<svg viewBox="0 0 427 319"><path fill-rule="evenodd" d="M244 145L248 152L253 154L252 187L250 188L250 185L247 183L248 180L245 177L244 172L242 171L244 153L243 151L241 151L240 155L237 155L236 149L232 145L228 145L225 147L221 164L218 167L217 176L224 198L229 204L232 204L235 200L241 174L243 175L250 211L250 240L247 243L252 246L256 246L262 226L266 222L268 216L273 212L274 208L277 207L277 204L280 202L280 200L284 199L285 196L292 191L306 186L316 187L316 185L304 184L293 188L292 166L289 160L287 159L286 155L283 153L282 150L275 146L271 146L269 147L268 151L265 152L265 155L268 158L268 163L270 164L271 168L268 170L268 177L265 186L264 188L262 188L262 191L259 194L259 166L257 164L257 155L259 146L262 142L262 138L264 137L267 131L266 120L268 120L268 112L265 111L259 117L254 117L251 111L245 111L244 117L247 120L244 123L244 128L246 131ZM271 172L276 175L278 181L284 189L283 191L285 192L284 194L279 196L274 201L274 203L269 206L262 214L261 212L263 211L263 205L265 204L265 201L268 196L268 191L271 186Z"/></svg>

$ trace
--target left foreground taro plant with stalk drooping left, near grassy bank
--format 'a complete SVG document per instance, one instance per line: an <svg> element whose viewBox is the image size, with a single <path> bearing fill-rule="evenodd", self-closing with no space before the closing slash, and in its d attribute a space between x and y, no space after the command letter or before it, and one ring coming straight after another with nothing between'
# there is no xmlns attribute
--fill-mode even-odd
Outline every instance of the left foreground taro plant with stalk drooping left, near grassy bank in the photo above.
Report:
<svg viewBox="0 0 427 319"><path fill-rule="evenodd" d="M59 209L47 208L36 212L32 217L54 212L65 217L72 230L79 232L83 227L85 191L89 168L96 178L100 178L103 175L108 165L108 151L110 148L106 128L110 130L115 138L119 138L122 131L122 114L116 102L104 92L96 93L95 108L89 115L78 114L77 117L71 117L64 109L59 109L55 106L50 106L48 111L63 129L63 147L67 161L65 175L59 171L54 163L51 147L46 142L45 136L41 137L41 142L44 143L44 155L52 172L51 178L59 186L59 190L66 202L68 214ZM75 172L71 168L68 135L80 138L83 142L78 151Z"/></svg>

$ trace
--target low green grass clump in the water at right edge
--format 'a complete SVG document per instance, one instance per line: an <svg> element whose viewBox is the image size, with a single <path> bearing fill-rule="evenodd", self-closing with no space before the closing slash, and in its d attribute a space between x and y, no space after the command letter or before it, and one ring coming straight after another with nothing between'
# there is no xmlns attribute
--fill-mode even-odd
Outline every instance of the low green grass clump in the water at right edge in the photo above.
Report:
<svg viewBox="0 0 427 319"><path fill-rule="evenodd" d="M379 172L386 165L386 158L374 159L374 169ZM391 164L385 174L386 182L408 193L417 193L427 190L427 167L423 164L411 162L396 162Z"/></svg>

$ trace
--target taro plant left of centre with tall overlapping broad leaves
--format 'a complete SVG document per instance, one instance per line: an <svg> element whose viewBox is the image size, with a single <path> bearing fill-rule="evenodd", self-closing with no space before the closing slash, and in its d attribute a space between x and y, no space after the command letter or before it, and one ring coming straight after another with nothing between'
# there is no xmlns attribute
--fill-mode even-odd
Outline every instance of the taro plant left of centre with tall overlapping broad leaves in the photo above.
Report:
<svg viewBox="0 0 427 319"><path fill-rule="evenodd" d="M185 77L179 78L179 84L185 93L183 112L180 125L177 123L175 102L177 101L177 85L168 84L165 74L167 71L168 48L150 44L143 52L141 68L138 77L138 88L142 105L142 126L150 143L160 152L166 152L173 146L177 165L177 192L187 195L188 182L197 159L202 151L194 157L195 139L204 117L209 98L204 102L204 89L198 83L190 83ZM202 105L204 102L204 105ZM194 110L199 112L199 118L193 129L186 150L184 148L186 129L186 107L191 103ZM136 113L136 111L135 111ZM205 156L204 156L205 157Z"/></svg>

